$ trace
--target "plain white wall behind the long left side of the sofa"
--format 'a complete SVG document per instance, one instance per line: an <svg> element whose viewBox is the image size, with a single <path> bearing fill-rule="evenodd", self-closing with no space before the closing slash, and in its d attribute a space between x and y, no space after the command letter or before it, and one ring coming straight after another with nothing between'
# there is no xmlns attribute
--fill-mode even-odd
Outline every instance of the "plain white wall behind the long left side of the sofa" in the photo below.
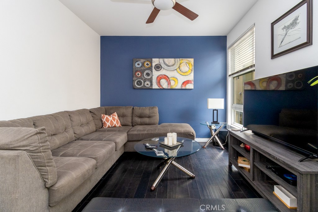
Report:
<svg viewBox="0 0 318 212"><path fill-rule="evenodd" d="M0 120L100 106L100 36L58 0L0 1Z"/></svg>

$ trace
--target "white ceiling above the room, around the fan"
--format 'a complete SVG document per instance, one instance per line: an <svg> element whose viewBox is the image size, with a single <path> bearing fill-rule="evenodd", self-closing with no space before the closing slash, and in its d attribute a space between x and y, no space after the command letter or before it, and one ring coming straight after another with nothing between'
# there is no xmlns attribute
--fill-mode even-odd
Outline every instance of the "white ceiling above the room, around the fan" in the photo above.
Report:
<svg viewBox="0 0 318 212"><path fill-rule="evenodd" d="M145 24L151 0L59 1L101 36L215 36L227 35L258 0L176 0L199 17L161 10L152 24Z"/></svg>

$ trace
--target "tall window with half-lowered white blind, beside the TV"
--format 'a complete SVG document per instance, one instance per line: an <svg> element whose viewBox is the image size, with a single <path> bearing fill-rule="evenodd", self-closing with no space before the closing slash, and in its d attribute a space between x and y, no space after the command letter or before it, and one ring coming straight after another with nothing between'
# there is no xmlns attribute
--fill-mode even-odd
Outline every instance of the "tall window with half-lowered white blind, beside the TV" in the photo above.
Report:
<svg viewBox="0 0 318 212"><path fill-rule="evenodd" d="M228 48L230 122L243 127L244 82L255 78L255 26Z"/></svg>

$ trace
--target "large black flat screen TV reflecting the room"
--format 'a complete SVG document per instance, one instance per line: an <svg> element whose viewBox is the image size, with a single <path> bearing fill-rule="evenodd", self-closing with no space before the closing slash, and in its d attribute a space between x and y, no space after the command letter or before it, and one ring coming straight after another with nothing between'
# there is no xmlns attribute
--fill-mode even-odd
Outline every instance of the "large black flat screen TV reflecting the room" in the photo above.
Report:
<svg viewBox="0 0 318 212"><path fill-rule="evenodd" d="M300 161L318 156L317 109L318 66L244 83L244 127L301 152Z"/></svg>

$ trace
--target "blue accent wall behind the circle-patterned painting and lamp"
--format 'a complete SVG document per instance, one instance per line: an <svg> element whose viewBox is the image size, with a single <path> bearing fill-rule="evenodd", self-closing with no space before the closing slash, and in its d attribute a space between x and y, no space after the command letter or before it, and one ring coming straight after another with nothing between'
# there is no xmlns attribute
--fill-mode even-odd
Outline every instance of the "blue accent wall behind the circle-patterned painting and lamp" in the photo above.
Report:
<svg viewBox="0 0 318 212"><path fill-rule="evenodd" d="M224 98L226 36L101 36L100 105L158 106L159 124L188 123L208 138L208 98ZM194 58L194 89L134 89L133 58ZM226 121L226 109L218 120Z"/></svg>

